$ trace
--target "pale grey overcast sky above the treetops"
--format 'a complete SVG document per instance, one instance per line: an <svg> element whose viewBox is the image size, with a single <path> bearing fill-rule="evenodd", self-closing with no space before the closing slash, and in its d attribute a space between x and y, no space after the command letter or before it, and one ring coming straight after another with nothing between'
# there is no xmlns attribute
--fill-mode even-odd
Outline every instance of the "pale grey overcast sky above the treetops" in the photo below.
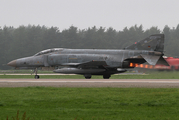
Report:
<svg viewBox="0 0 179 120"><path fill-rule="evenodd" d="M0 26L45 25L68 29L135 24L163 30L179 24L179 0L0 0Z"/></svg>

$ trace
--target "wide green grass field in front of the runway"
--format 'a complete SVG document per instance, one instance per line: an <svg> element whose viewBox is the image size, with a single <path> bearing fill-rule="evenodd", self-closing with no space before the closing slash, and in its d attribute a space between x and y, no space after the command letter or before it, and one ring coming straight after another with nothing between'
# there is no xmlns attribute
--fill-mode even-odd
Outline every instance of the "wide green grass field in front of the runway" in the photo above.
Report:
<svg viewBox="0 0 179 120"><path fill-rule="evenodd" d="M178 88L0 88L0 120L178 120Z"/></svg>

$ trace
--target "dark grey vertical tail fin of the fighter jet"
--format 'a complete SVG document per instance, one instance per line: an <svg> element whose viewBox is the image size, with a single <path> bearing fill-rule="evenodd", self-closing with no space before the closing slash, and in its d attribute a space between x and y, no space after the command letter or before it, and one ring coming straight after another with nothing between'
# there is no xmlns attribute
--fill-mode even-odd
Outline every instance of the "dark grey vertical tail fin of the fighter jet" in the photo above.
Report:
<svg viewBox="0 0 179 120"><path fill-rule="evenodd" d="M129 50L150 50L162 52L164 50L164 34L154 34L144 40L135 42L135 44L125 47Z"/></svg>

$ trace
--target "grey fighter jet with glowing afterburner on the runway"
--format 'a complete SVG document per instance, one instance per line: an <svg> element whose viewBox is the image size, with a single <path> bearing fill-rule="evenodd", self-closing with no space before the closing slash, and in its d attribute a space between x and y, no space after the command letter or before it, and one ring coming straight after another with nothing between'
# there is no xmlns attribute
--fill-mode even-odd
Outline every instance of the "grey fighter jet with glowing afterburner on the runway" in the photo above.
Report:
<svg viewBox="0 0 179 120"><path fill-rule="evenodd" d="M163 59L164 35L155 34L121 50L113 49L65 49L43 50L33 56L20 58L8 63L15 69L54 67L54 72L80 74L86 79L92 75L103 75L109 79L112 74L122 73L147 62L150 65L168 63Z"/></svg>

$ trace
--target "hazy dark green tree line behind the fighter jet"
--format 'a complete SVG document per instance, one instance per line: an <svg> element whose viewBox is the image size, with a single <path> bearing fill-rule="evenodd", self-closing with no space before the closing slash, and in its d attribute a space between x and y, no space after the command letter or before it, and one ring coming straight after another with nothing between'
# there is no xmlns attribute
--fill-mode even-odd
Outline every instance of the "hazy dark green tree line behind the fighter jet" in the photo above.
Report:
<svg viewBox="0 0 179 120"><path fill-rule="evenodd" d="M19 26L0 27L0 69L11 69L9 61L34 55L49 48L78 48L78 49L122 49L136 41L152 34L165 34L165 55L178 57L179 25L170 28L167 25L163 30L151 27L143 30L142 25L125 27L117 31L104 27L89 27L78 29L70 26L62 31L58 27L46 26Z"/></svg>

